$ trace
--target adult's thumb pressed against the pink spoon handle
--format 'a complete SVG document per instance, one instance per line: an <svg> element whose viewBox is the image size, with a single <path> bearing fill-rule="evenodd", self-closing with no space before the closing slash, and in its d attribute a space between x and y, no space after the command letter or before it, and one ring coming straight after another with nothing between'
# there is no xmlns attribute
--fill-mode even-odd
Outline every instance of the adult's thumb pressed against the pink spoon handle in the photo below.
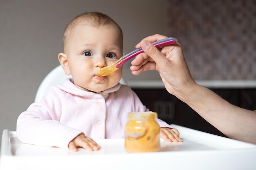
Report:
<svg viewBox="0 0 256 170"><path fill-rule="evenodd" d="M141 41L140 45L144 53L152 58L156 64L160 64L166 60L166 57L150 42L144 40Z"/></svg>

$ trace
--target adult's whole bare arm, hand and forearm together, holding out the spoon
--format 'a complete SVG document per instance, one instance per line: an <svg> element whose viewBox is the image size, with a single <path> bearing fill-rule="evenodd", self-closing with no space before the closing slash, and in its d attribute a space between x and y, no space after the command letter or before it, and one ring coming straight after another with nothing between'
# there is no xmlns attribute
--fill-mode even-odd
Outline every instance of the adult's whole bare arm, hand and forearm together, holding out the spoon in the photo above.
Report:
<svg viewBox="0 0 256 170"><path fill-rule="evenodd" d="M256 144L256 113L230 104L213 91L195 83L189 73L180 44L156 48L151 44L167 38L152 35L141 40L136 48L144 53L131 62L132 74L157 70L166 90L185 102L195 112L232 139Z"/></svg>

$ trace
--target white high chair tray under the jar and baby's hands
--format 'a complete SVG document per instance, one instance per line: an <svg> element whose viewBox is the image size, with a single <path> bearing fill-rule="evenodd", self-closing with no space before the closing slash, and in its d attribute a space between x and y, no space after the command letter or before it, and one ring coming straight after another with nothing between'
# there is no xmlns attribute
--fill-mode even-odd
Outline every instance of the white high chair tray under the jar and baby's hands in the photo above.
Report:
<svg viewBox="0 0 256 170"><path fill-rule="evenodd" d="M172 125L183 142L161 139L161 151L127 153L124 139L103 139L99 151L22 144L15 131L4 130L0 170L252 170L256 169L256 145Z"/></svg>

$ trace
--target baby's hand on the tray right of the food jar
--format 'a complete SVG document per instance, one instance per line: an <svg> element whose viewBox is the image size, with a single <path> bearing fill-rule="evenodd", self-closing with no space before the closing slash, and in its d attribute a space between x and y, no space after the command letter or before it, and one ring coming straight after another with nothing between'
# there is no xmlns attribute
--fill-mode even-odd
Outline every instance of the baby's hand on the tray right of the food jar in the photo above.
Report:
<svg viewBox="0 0 256 170"><path fill-rule="evenodd" d="M177 129L172 128L160 128L160 136L167 142L180 142L180 132Z"/></svg>

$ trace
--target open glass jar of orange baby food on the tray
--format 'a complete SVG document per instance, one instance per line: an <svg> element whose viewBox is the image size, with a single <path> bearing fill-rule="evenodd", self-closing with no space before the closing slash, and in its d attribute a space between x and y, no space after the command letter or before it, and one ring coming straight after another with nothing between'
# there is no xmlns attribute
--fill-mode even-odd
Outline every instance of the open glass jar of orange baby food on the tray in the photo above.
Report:
<svg viewBox="0 0 256 170"><path fill-rule="evenodd" d="M127 152L156 152L160 150L160 126L155 112L128 113L125 126L125 150Z"/></svg>

